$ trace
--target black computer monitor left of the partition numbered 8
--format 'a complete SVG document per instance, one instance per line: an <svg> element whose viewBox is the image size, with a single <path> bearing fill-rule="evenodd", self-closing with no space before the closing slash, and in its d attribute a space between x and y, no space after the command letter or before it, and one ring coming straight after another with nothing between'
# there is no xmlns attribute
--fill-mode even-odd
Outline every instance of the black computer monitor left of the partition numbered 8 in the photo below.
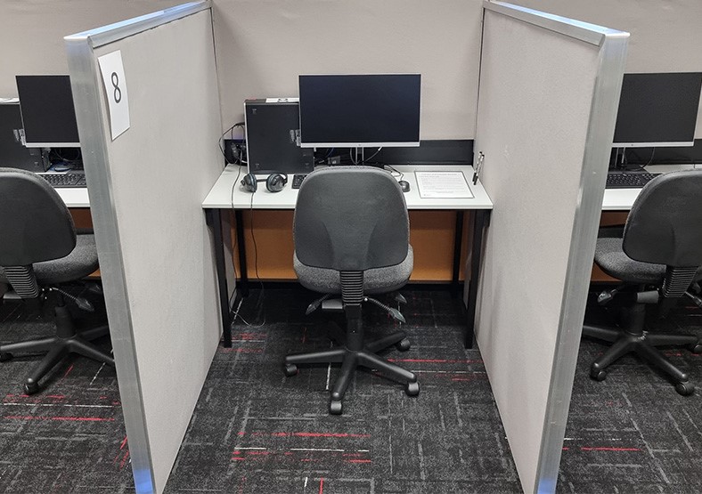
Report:
<svg viewBox="0 0 702 494"><path fill-rule="evenodd" d="M78 148L78 124L69 76L16 76L24 144Z"/></svg>

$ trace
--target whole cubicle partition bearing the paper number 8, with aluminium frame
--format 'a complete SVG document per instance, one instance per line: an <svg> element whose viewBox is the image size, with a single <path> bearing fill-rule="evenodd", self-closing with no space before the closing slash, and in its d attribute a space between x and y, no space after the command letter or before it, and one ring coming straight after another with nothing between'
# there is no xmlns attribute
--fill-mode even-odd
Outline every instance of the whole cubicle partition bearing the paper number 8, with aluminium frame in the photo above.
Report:
<svg viewBox="0 0 702 494"><path fill-rule="evenodd" d="M211 7L65 43L135 488L160 492L221 332L200 209L222 170Z"/></svg>

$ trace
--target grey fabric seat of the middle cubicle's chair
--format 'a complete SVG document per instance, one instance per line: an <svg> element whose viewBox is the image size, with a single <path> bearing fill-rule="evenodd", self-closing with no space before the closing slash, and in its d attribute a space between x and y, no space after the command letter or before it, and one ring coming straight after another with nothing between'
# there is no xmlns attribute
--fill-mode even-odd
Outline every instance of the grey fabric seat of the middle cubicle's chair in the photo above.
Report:
<svg viewBox="0 0 702 494"><path fill-rule="evenodd" d="M303 287L327 294L336 295L341 293L339 271L307 266L300 263L298 255L293 256L292 265ZM404 258L402 263L363 272L363 293L367 295L387 293L404 287L410 279L413 265L414 253L412 252L412 246L408 246L407 257Z"/></svg>

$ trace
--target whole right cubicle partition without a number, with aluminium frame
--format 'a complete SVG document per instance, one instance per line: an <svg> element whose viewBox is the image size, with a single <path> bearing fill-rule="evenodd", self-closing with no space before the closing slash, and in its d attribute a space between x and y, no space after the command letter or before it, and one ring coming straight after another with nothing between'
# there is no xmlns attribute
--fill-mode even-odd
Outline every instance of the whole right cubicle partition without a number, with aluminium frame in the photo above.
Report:
<svg viewBox="0 0 702 494"><path fill-rule="evenodd" d="M484 4L476 335L526 492L557 481L628 33Z"/></svg>

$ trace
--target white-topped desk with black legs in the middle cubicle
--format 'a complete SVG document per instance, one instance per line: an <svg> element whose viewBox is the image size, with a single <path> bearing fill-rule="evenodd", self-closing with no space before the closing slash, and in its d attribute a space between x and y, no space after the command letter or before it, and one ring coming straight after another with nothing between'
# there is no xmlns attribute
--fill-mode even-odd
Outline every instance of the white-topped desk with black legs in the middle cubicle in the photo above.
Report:
<svg viewBox="0 0 702 494"><path fill-rule="evenodd" d="M393 166L402 174L403 180L410 182L410 190L404 194L404 200L409 210L448 210L458 212L456 218L456 232L453 246L453 285L458 285L458 276L461 261L461 236L463 225L463 212L474 211L475 221L473 222L473 238L470 255L470 280L467 301L467 320L464 343L467 348L473 344L473 328L475 323L476 298L478 296L478 274L480 268L480 256L482 254L483 231L486 227L487 217L493 208L493 203L487 196L482 184L472 184L472 166ZM473 198L420 198L419 186L414 176L415 171L460 171L469 183ZM243 228L241 227L241 211L253 209L282 209L293 210L298 198L298 190L292 189L290 182L280 192L269 192L265 187L259 187L252 196L250 192L241 189L241 185L235 183L237 177L245 174L238 166L226 166L224 172L219 176L208 196L202 201L202 208L208 215L208 225L212 229L215 243L215 261L217 270L217 282L219 288L219 302L222 311L224 324L224 346L232 344L231 317L229 311L228 288L226 284L226 271L224 264L224 237L222 232L223 209L233 209L237 224L237 243L239 245L239 264L241 294L248 295L248 274L246 270L246 255L244 249Z"/></svg>

